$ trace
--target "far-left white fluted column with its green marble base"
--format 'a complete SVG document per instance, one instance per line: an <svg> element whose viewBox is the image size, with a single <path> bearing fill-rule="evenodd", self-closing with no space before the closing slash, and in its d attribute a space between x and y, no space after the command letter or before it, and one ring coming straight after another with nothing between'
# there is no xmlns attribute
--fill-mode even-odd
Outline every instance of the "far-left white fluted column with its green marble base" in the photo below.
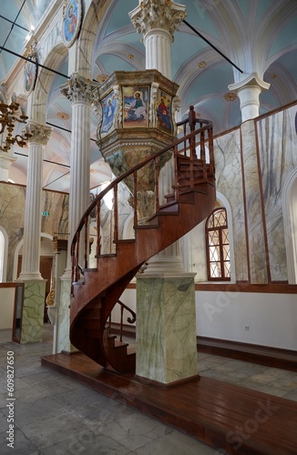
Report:
<svg viewBox="0 0 297 455"><path fill-rule="evenodd" d="M46 281L39 271L41 234L41 197L44 148L51 127L28 122L29 139L26 178L26 207L22 269L19 281L25 283L21 343L41 341L43 336Z"/></svg>

